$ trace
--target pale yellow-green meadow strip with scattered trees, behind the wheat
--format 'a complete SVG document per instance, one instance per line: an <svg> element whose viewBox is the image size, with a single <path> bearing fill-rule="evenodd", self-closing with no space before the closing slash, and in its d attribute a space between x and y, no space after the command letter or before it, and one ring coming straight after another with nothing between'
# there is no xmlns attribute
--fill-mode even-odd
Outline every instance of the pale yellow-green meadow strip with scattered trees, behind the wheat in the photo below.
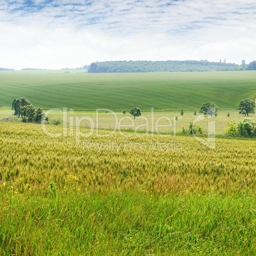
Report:
<svg viewBox="0 0 256 256"><path fill-rule="evenodd" d="M4 117L13 117L13 113L14 111L9 110L1 110L0 108L0 120ZM215 118L205 118L205 120L202 120L200 122L198 122L196 124L200 125L203 128L203 133L207 134L208 132L208 122L209 121L215 121L215 127L216 127L216 134L218 136L225 134L225 129L227 128L227 122L231 122L231 121L235 121L236 123L238 123L239 121L242 121L245 116L243 115L239 115L239 111L232 111L229 110L230 113L230 117L227 117L227 110L220 110L218 111L218 116ZM189 122L192 122L199 114L197 113L197 115L194 115L194 111L185 111L184 115L182 116L182 118L180 118L178 120L178 122L176 122L175 126L176 126L176 134L180 134L182 132L182 127L184 127L185 129L188 129L188 125ZM52 124L52 122L55 119L60 119L62 120L63 113L57 113L57 112L53 112L51 115L49 115L50 117L50 124ZM180 117L180 112L179 111L163 111L163 112L154 112L154 117L153 117L153 131L155 131L155 126L157 124L157 120L161 117L168 117L171 119L171 127L159 127L159 132L162 134L173 134L174 132L174 119L175 117ZM69 114L68 113L68 122L69 122L69 118L72 118L75 122L75 117L90 117L92 118L92 120L94 120L94 123L96 124L96 113L94 111L75 111L73 114ZM129 113L123 115L122 111L117 112L117 118L118 121L120 121L121 118L123 117L132 117ZM150 112L143 112L142 113L142 117L143 118L147 118L149 124L152 124L152 113ZM250 115L250 118L256 118L256 114L254 115ZM99 113L99 128L100 129L110 129L113 130L115 129L115 118L111 113L104 113L104 112L100 112ZM138 125L146 125L146 122L144 119L139 119L137 118L136 120L134 120L134 127L131 127L129 125L131 125L131 120L124 120L121 122L122 124L122 129L126 130L126 131L132 131L134 132L134 129L136 129L136 127L138 127ZM167 125L169 124L166 120L162 120L159 122L159 125ZM82 122L81 123L81 127L89 127L90 124L89 122ZM150 131L152 131L151 126L149 127ZM141 127L139 129L139 131L143 132L145 131L145 126Z"/></svg>

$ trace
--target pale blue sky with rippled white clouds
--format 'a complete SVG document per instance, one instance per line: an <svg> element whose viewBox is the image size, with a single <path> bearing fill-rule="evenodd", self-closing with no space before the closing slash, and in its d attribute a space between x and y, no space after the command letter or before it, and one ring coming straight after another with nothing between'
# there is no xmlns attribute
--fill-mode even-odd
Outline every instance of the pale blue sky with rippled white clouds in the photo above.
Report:
<svg viewBox="0 0 256 256"><path fill-rule="evenodd" d="M255 0L1 0L0 68L256 59Z"/></svg>

